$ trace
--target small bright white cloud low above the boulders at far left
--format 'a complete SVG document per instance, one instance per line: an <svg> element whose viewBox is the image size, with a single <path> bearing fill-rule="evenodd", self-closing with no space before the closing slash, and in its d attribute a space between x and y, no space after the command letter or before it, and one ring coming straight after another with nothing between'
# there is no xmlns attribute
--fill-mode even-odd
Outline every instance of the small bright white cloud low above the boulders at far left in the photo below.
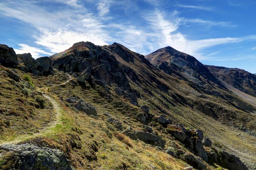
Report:
<svg viewBox="0 0 256 170"><path fill-rule="evenodd" d="M40 48L31 47L27 44L18 44L18 45L20 46L20 48L14 49L16 54L30 53L33 58L39 58L41 54L52 55L51 53L46 52Z"/></svg>

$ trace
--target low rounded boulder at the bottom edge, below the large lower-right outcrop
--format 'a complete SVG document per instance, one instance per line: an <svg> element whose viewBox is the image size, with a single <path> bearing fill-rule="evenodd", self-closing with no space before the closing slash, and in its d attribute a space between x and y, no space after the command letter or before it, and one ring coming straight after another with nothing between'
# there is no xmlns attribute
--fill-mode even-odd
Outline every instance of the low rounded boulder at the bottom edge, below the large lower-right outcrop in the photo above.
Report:
<svg viewBox="0 0 256 170"><path fill-rule="evenodd" d="M195 167L196 169L199 170L204 170L206 169L206 165L204 164L204 162L201 160L201 158L196 157L192 154L189 153L185 153L182 157L182 159L184 161L186 161L189 165L192 165L193 167Z"/></svg>

